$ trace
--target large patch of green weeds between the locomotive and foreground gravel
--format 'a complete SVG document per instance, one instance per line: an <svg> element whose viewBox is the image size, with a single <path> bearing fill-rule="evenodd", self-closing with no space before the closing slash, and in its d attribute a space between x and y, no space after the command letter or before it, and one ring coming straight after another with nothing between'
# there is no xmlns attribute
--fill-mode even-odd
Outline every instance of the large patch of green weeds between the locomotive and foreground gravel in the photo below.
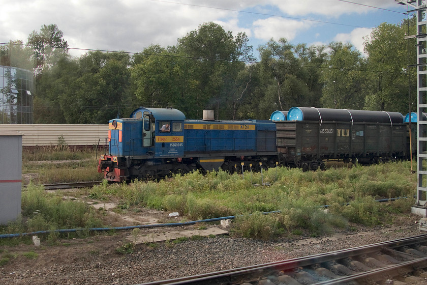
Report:
<svg viewBox="0 0 427 285"><path fill-rule="evenodd" d="M121 205L126 205L122 209L143 206L177 211L191 220L237 215L235 234L269 239L304 232L328 234L334 227L347 227L348 222L383 223L388 213L410 210L416 188L416 177L410 174L406 161L307 173L279 167L264 172L262 179L271 186L251 184L261 182L259 173L252 177L248 173L242 179L221 170L206 175L195 172L159 182L105 182L88 194L100 200L119 198ZM375 202L391 197L408 198ZM280 212L262 214L269 211Z"/></svg>

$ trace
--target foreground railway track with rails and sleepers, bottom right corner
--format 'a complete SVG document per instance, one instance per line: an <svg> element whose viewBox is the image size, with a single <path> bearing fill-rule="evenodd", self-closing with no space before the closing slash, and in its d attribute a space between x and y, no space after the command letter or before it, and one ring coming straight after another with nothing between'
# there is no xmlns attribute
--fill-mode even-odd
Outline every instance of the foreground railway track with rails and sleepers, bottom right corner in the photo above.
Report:
<svg viewBox="0 0 427 285"><path fill-rule="evenodd" d="M166 284L427 284L427 235L310 257L143 283Z"/></svg>

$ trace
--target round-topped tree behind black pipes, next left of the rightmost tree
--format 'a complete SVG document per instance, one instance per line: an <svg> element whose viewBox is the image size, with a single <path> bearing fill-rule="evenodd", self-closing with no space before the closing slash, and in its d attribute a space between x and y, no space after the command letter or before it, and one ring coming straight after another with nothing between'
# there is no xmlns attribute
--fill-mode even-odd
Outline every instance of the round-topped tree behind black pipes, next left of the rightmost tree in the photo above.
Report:
<svg viewBox="0 0 427 285"><path fill-rule="evenodd" d="M367 72L360 52L349 43L332 42L328 47L329 59L321 77L323 107L363 109Z"/></svg>

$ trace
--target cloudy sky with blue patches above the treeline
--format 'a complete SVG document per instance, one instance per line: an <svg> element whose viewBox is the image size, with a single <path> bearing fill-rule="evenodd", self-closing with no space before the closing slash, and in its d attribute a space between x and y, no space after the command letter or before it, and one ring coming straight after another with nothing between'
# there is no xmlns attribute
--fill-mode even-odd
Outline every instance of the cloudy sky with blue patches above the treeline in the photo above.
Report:
<svg viewBox="0 0 427 285"><path fill-rule="evenodd" d="M43 24L56 24L73 56L176 45L206 22L233 36L245 32L255 56L260 45L280 38L308 46L349 42L363 54L374 27L407 18L407 6L394 0L16 0L1 7L0 43L26 43Z"/></svg>

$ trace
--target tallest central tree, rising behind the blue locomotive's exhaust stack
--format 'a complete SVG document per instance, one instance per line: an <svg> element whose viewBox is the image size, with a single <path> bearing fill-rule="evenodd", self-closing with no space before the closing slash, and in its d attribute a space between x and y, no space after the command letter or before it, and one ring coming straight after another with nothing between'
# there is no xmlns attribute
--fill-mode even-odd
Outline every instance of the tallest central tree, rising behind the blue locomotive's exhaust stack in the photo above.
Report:
<svg viewBox="0 0 427 285"><path fill-rule="evenodd" d="M212 108L219 119L229 98L243 82L237 82L238 74L245 69L243 61L253 60L252 46L248 46L245 33L235 38L223 27L208 22L197 31L178 39L177 50L191 57L195 63L194 79L198 81L197 111Z"/></svg>

